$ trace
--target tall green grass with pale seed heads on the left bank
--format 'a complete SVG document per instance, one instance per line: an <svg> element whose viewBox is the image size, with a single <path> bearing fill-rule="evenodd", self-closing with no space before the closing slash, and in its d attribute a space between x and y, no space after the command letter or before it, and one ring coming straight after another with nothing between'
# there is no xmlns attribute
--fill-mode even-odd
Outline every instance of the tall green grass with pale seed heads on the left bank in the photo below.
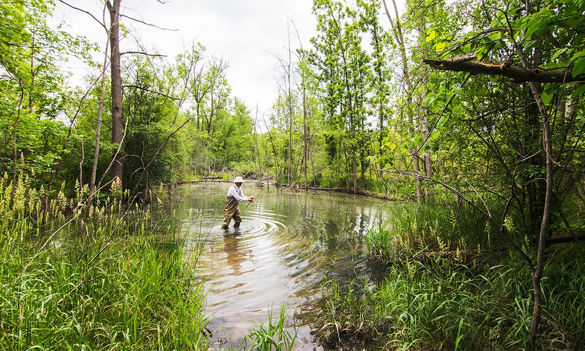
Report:
<svg viewBox="0 0 585 351"><path fill-rule="evenodd" d="M43 194L30 183L20 179L11 201L0 180L2 349L207 347L197 257L185 257L177 226L155 230L149 209L115 199L85 209L63 192L42 225Z"/></svg>

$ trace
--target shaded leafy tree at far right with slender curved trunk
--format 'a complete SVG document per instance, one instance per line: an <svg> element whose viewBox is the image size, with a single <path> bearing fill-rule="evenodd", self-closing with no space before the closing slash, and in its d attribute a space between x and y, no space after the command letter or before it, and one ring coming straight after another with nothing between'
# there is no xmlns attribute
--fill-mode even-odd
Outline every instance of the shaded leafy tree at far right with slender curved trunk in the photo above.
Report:
<svg viewBox="0 0 585 351"><path fill-rule="evenodd" d="M574 117L575 98L585 90L579 85L585 80L582 75L585 70L583 48L585 21L576 6L579 5L556 1L539 4L532 4L529 1L518 4L497 2L494 7L498 8L498 11L495 19L489 20L488 29L474 30L463 36L450 51L455 55L464 54L464 58L427 61L433 67L446 70L498 74L517 78L517 82L528 81L519 88L512 88L528 93L532 99L526 109L526 123L522 125L512 119L515 125L521 126L521 132L528 136L526 147L519 150L519 157L515 157L517 159L515 165L505 159L503 153L505 150L501 146L494 147L490 140L490 129L487 129L487 132L474 130L474 133L491 147L490 152L494 153L507 175L506 183L510 184L510 188L505 192L507 203L504 215L501 219L495 219L485 203L484 210L481 210L479 205L474 207L490 218L508 238L512 230L505 221L508 211L515 208L523 217L528 212L526 217L530 222L524 225L524 228L527 235L536 237L534 256L532 253L524 253L517 244L515 247L531 270L534 292L530 328L532 342L536 342L542 314L541 278L546 262L546 248L553 243L565 242L565 238L553 238L552 228L564 226L574 240L579 239L563 215L566 212L563 206L565 200L569 192L572 192L574 182L581 180L582 177L578 168L575 168L581 166L579 157L581 152L577 146L581 144L581 140L580 137L577 139L572 137L580 134L584 127L583 121ZM559 26L558 23L564 24ZM443 48L446 44L439 41L435 46ZM504 57L506 61L502 64L475 62L473 59L476 56L473 55L481 56L482 60L488 57L494 59ZM514 63L518 61L519 64ZM546 68L558 71L540 72ZM555 83L555 80L550 78L555 74L565 77L563 83L575 81L579 83L573 85ZM483 77L480 75L479 79ZM498 82L497 78L490 79ZM542 86L538 82L548 84ZM572 95L567 98L569 93ZM479 95L484 99L492 98L486 97L485 93ZM568 115L565 111L569 111ZM485 134L487 136L484 136ZM511 144L513 149L517 149L516 146L519 144L516 140L507 143ZM531 170L532 176L526 177L519 172L524 168ZM534 174L538 176L535 177ZM567 182L569 178L571 181ZM526 208L526 198L530 199L529 208ZM560 215L555 215L555 212ZM538 222L539 225L535 225Z"/></svg>

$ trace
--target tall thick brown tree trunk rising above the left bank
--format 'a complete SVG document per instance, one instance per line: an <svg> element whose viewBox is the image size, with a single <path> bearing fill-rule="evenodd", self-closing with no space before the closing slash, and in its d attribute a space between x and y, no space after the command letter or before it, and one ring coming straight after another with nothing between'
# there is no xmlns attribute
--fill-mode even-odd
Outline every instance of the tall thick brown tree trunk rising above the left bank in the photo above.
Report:
<svg viewBox="0 0 585 351"><path fill-rule="evenodd" d="M112 74L112 143L120 144L122 142L122 75L121 75L121 56L120 56L120 2L121 0L106 1L110 14L110 46L111 46L111 74ZM122 184L123 167L121 154L116 155L116 160L112 165L112 178L118 178L120 188Z"/></svg>

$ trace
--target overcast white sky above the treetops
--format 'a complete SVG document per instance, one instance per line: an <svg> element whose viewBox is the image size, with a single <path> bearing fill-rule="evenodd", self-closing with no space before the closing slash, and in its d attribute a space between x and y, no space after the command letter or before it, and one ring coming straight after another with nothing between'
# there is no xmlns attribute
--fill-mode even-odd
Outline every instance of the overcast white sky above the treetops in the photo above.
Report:
<svg viewBox="0 0 585 351"><path fill-rule="evenodd" d="M102 18L102 0L66 0L69 4ZM232 93L255 112L266 112L277 98L274 78L277 60L288 43L287 22L292 20L304 46L314 36L316 19L311 13L312 0L122 0L122 13L159 27L177 29L170 32L123 19L150 49L173 59L195 40L208 54L229 62L227 77ZM66 30L105 46L104 29L89 15L56 1L55 23L63 22ZM109 21L108 21L109 22ZM106 22L107 23L107 22ZM291 28L292 32L296 31ZM298 43L296 37L294 44ZM136 49L134 40L125 39L121 51ZM97 55L98 62L103 61ZM78 84L88 68L70 61L71 83Z"/></svg>

